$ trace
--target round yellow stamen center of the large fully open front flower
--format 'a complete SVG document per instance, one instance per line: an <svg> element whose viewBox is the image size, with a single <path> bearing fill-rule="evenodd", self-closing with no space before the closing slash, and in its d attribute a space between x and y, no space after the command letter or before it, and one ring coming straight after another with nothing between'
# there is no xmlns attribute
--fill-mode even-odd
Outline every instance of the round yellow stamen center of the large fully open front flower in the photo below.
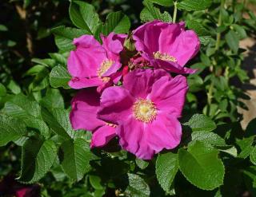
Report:
<svg viewBox="0 0 256 197"><path fill-rule="evenodd" d="M138 99L133 106L133 112L136 120L144 123L150 123L157 116L157 108L151 100Z"/></svg>

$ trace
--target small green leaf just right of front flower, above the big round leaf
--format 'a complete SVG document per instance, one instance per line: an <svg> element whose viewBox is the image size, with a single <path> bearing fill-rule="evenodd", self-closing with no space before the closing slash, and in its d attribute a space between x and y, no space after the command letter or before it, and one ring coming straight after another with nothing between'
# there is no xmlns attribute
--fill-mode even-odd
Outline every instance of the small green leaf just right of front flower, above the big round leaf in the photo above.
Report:
<svg viewBox="0 0 256 197"><path fill-rule="evenodd" d="M203 114L194 114L184 125L190 126L193 132L210 132L216 128L214 121Z"/></svg>

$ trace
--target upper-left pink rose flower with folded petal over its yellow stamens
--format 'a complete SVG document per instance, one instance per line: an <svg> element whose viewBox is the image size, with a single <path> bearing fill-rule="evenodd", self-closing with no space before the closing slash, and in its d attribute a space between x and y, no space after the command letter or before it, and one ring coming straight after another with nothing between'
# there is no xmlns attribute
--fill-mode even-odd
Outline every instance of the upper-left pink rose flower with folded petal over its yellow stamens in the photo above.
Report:
<svg viewBox="0 0 256 197"><path fill-rule="evenodd" d="M102 45L92 35L75 38L76 46L70 52L67 67L72 79L73 89L99 86L99 91L110 86L114 73L121 68L119 53L123 49L125 34L110 33L102 36ZM115 81L117 82L117 81Z"/></svg>

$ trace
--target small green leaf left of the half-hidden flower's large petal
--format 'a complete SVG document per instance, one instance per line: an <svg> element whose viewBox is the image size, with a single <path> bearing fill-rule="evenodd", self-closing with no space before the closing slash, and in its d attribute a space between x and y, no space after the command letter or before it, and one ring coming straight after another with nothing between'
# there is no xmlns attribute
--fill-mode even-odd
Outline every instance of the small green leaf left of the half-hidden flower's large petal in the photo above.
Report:
<svg viewBox="0 0 256 197"><path fill-rule="evenodd" d="M58 89L47 89L46 97L43 97L40 103L49 110L52 108L64 108L64 100Z"/></svg>

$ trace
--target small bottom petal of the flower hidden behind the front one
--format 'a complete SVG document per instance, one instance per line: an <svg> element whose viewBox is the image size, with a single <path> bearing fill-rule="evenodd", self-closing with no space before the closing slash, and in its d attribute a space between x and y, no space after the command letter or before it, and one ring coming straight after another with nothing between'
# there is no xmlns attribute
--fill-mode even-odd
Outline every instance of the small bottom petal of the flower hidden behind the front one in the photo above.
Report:
<svg viewBox="0 0 256 197"><path fill-rule="evenodd" d="M116 136L116 128L104 125L93 132L90 148L103 147Z"/></svg>

